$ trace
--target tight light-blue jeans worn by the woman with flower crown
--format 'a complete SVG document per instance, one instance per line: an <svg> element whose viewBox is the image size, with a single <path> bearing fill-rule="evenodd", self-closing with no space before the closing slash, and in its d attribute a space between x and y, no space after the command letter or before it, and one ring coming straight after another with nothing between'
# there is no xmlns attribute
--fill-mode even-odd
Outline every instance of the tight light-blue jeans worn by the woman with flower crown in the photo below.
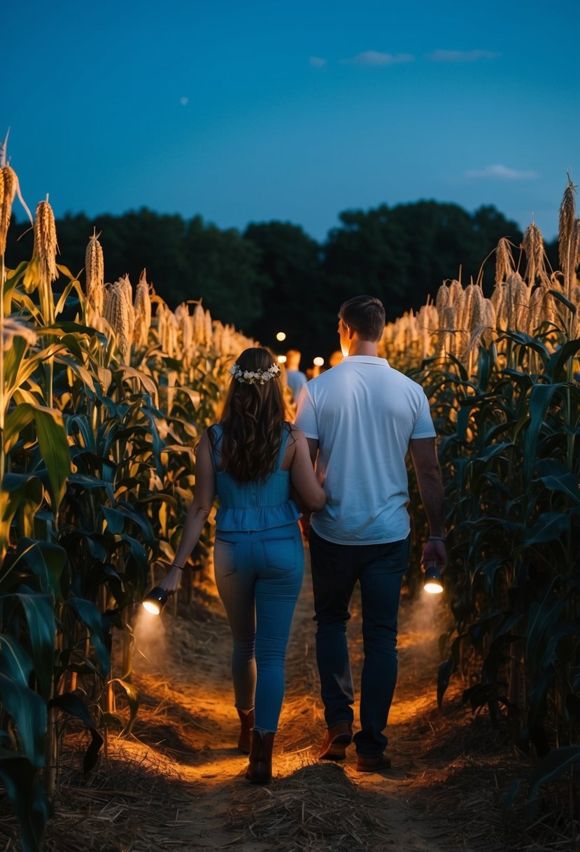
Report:
<svg viewBox="0 0 580 852"><path fill-rule="evenodd" d="M298 524L216 533L215 581L230 622L236 707L255 706L254 728L278 728L290 624L304 576Z"/></svg>

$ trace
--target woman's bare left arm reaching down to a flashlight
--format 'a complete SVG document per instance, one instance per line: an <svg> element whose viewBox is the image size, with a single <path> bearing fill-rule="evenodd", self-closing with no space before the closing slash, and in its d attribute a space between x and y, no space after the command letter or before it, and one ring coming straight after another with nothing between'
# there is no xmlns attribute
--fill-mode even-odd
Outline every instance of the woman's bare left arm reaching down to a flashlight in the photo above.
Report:
<svg viewBox="0 0 580 852"><path fill-rule="evenodd" d="M199 541L205 522L213 507L215 498L215 471L212 461L212 445L207 430L202 435L196 454L196 486L189 511L185 516L183 533L175 551L176 566L184 566L191 551ZM183 571L171 567L159 584L162 589L173 592L178 589Z"/></svg>

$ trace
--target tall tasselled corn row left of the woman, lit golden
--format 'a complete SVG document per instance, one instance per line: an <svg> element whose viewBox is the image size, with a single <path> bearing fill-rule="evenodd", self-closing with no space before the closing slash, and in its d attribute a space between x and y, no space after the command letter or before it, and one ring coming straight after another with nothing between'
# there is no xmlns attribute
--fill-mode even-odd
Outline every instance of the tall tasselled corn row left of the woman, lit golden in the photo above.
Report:
<svg viewBox="0 0 580 852"><path fill-rule="evenodd" d="M173 560L196 438L216 418L232 358L253 342L200 302L170 310L145 272L135 289L127 276L106 284L96 233L82 285L57 262L48 201L37 206L30 261L5 268L17 190L3 164L0 779L29 852L58 790L67 719L90 734L85 771L107 728L131 729L134 602L151 565ZM115 676L113 630L123 648Z"/></svg>

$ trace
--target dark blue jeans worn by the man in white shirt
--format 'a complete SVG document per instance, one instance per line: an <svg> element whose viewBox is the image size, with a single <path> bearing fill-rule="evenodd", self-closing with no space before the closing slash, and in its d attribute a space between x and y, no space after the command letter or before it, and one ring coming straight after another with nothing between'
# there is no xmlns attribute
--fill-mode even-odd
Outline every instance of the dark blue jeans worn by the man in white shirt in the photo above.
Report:
<svg viewBox="0 0 580 852"><path fill-rule="evenodd" d="M334 544L310 530L316 659L328 728L354 717L346 623L357 580L361 584L361 731L354 740L363 757L378 757L387 745L383 731L395 692L397 613L408 556L408 537L389 544Z"/></svg>

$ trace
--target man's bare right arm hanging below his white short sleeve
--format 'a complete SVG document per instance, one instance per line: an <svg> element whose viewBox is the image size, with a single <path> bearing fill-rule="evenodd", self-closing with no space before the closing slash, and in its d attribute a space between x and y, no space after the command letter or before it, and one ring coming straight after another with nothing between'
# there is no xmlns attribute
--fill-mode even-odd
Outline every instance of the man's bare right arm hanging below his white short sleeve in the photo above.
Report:
<svg viewBox="0 0 580 852"><path fill-rule="evenodd" d="M421 561L437 562L441 571L447 564L445 549L445 513L443 508L443 481L435 451L435 438L416 438L409 449L421 500L429 521L429 538L423 549ZM435 539L435 540L433 540ZM437 539L441 539L438 541Z"/></svg>

